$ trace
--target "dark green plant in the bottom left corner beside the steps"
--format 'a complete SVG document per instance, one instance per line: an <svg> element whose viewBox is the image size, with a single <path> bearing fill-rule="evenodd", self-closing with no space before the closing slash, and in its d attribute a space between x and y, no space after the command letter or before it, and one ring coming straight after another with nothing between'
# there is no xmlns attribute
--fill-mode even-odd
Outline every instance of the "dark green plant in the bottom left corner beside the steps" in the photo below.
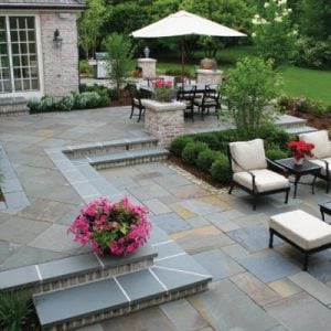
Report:
<svg viewBox="0 0 331 331"><path fill-rule="evenodd" d="M32 311L31 292L28 290L0 290L0 329L22 330Z"/></svg>

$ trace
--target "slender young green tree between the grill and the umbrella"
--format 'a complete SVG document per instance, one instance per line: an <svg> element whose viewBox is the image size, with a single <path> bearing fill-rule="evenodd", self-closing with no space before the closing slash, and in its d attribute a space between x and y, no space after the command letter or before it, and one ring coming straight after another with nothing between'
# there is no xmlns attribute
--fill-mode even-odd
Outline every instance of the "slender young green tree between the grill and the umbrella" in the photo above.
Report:
<svg viewBox="0 0 331 331"><path fill-rule="evenodd" d="M116 84L117 95L132 67L132 46L128 38L116 32L109 34L105 41L109 55L109 77Z"/></svg>

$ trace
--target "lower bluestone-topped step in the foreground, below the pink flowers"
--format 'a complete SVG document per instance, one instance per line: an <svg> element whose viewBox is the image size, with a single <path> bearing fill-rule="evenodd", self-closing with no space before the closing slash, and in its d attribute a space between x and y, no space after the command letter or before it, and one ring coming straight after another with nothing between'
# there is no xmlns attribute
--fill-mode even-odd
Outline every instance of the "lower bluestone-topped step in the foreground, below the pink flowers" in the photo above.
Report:
<svg viewBox="0 0 331 331"><path fill-rule="evenodd" d="M35 295L43 330L73 330L207 289L211 276L189 255L161 261L128 275Z"/></svg>

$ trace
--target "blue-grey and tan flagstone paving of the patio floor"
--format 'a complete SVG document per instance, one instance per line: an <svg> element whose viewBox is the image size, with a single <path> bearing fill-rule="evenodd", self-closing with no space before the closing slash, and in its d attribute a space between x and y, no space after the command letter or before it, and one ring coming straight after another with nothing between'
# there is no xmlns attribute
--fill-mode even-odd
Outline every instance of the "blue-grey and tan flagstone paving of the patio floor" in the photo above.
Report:
<svg viewBox="0 0 331 331"><path fill-rule="evenodd" d="M212 188L167 160L149 162L147 150L156 149L151 142L135 148L130 156L125 150L127 166L90 167L90 162L114 161L113 143L128 146L150 139L143 120L130 120L130 111L127 106L1 118L4 152L0 161L7 178L1 188L8 203L0 205L0 271L88 254L89 247L79 246L66 234L81 206L98 194L128 195L149 209L156 228L168 236L170 248L161 256L159 245L158 264L174 268L172 259L189 255L213 280L206 291L82 331L329 330L330 250L313 254L308 271L302 271L302 254L296 247L276 237L274 249L268 247L274 215L301 210L321 220L319 204L330 201L325 181L317 180L314 194L310 186L300 186L300 194L289 196L288 204L284 204L284 193L260 196L253 211L254 196L242 190L234 189L229 195L227 189ZM211 114L204 121L186 118L184 130L229 126ZM97 154L95 150L103 147L105 153ZM75 150L76 154L68 163L56 150L68 154ZM143 163L131 162L134 154L141 156ZM15 178L10 178L13 173ZM325 212L324 218L329 223L330 214Z"/></svg>

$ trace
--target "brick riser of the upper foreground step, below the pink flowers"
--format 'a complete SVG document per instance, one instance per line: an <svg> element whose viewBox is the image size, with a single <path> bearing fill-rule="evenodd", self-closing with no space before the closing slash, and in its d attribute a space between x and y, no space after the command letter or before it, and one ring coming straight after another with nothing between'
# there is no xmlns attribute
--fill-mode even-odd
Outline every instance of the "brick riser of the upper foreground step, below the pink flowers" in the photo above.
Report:
<svg viewBox="0 0 331 331"><path fill-rule="evenodd" d="M38 295L38 293L46 293L46 292L63 290L75 286L88 284L92 281L98 281L103 279L113 278L115 276L120 276L120 275L126 275L129 273L142 270L151 267L152 265L153 265L153 258L148 258L137 263L116 266L115 268L105 268L93 273L84 271L74 277L65 277L62 279L56 279L54 281L42 282L41 285L33 287L32 292Z"/></svg>

